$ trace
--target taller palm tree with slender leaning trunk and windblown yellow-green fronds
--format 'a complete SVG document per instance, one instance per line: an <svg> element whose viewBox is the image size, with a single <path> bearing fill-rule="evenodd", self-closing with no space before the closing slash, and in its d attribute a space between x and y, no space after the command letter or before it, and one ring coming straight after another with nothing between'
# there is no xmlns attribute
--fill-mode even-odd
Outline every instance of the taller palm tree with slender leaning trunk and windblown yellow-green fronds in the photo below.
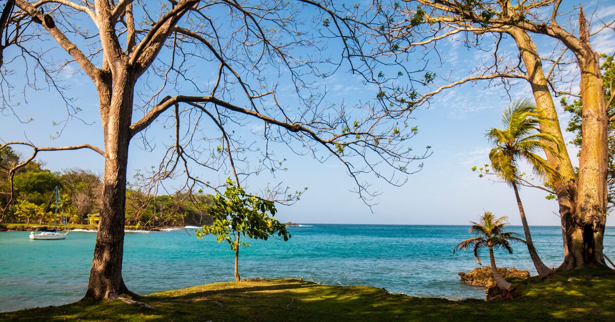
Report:
<svg viewBox="0 0 615 322"><path fill-rule="evenodd" d="M552 146L561 150L563 144L555 136L540 132L538 125L544 122L547 121L542 119L536 106L530 100L518 100L505 109L504 114L502 114L504 129L491 128L486 135L494 146L489 153L491 167L515 191L526 245L534 267L541 277L554 273L554 270L541 261L536 248L534 248L530 227L523 210L523 203L519 197L518 185L522 182L522 178L517 165L518 160L525 160L533 168L534 175L554 182L557 172L536 152L555 152Z"/></svg>

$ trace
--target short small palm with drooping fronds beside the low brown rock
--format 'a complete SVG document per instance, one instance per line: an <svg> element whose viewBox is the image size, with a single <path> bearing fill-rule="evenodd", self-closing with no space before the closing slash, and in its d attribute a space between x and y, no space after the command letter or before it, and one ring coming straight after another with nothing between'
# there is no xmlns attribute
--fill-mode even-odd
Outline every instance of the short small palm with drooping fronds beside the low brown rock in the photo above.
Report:
<svg viewBox="0 0 615 322"><path fill-rule="evenodd" d="M506 249L512 254L512 247L510 242L525 243L525 240L520 238L521 235L516 232L504 232L504 226L507 225L507 217L502 216L498 219L494 219L493 214L490 211L485 211L485 214L480 217L480 223L472 222L470 227L470 234L474 234L476 237L466 239L453 249L453 255L455 251L464 251L467 248L474 248L474 258L478 262L478 265L482 265L480 262L480 252L486 248L489 248L489 257L491 260L491 273L493 274L493 280L499 288L509 290L511 284L504 280L504 277L498 273L496 267L496 259L493 256L493 249L502 248Z"/></svg>

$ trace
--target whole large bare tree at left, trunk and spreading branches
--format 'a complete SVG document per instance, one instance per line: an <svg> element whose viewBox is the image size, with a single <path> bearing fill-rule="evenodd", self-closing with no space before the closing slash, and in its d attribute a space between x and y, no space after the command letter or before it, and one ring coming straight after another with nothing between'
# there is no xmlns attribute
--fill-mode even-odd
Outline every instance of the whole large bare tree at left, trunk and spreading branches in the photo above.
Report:
<svg viewBox="0 0 615 322"><path fill-rule="evenodd" d="M375 73L381 61L363 51L368 41L360 31L379 24L361 22L365 17L357 8L278 0L15 4L19 10L12 21L36 25L30 26L33 36L15 46L20 51L12 61L31 66L30 73L43 75L42 82L60 94L66 88L54 76L66 66L79 68L97 90L103 149L4 145L30 145L34 153L29 160L38 151L77 148L104 158L87 298L132 294L122 278L128 151L135 137L150 146L153 138L146 130L154 122L169 130L172 139L162 141L168 149L158 171L144 178L184 176L191 191L215 187L193 174L196 167L232 173L238 181L279 168L282 160L269 147L282 143L300 154L339 159L368 202L370 190L360 175L375 172L400 184L403 180L395 173L411 173L408 163L429 153L415 155L405 146L416 128L408 125L408 114L390 112L404 90ZM336 42L339 46L327 47ZM48 47L52 43L64 56ZM325 101L319 82L338 68L363 77L375 103ZM45 85L36 77L26 85L34 84ZM62 97L69 114L77 111L67 95ZM4 104L15 108L7 98ZM254 134L247 130L250 125L260 128L258 142L245 139Z"/></svg>

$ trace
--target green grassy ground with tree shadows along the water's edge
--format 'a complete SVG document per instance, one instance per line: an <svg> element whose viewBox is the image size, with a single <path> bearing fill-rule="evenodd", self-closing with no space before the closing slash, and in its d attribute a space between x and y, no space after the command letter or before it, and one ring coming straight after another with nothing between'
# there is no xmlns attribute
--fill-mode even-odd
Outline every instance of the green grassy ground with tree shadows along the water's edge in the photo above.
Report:
<svg viewBox="0 0 615 322"><path fill-rule="evenodd" d="M389 294L368 286L251 280L195 286L121 300L0 313L30 321L615 321L615 275L555 276L522 285L514 300L451 301Z"/></svg>

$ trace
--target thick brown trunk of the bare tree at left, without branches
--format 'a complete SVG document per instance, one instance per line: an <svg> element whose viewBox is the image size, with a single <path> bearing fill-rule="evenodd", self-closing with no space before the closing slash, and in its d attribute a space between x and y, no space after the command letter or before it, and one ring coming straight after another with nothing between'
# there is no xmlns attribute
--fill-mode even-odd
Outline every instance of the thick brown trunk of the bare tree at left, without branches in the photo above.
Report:
<svg viewBox="0 0 615 322"><path fill-rule="evenodd" d="M131 293L122 278L126 171L132 118L133 82L129 73L113 76L112 90L101 89L101 119L105 133L105 171L98 235L85 298L114 299ZM111 97L109 100L109 96ZM113 93L113 96L111 96ZM103 95L101 95L103 94Z"/></svg>

